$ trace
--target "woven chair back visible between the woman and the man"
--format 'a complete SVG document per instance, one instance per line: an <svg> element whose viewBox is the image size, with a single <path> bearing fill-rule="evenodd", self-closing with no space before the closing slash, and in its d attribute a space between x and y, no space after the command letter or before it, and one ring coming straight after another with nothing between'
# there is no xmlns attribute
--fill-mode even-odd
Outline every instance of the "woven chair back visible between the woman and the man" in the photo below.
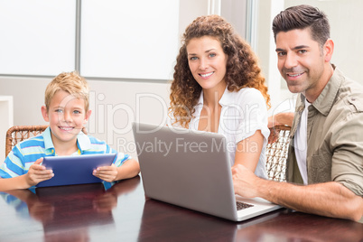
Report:
<svg viewBox="0 0 363 242"><path fill-rule="evenodd" d="M266 147L266 170L270 180L286 181L286 159L290 144L290 126L274 126L270 128L270 136Z"/></svg>

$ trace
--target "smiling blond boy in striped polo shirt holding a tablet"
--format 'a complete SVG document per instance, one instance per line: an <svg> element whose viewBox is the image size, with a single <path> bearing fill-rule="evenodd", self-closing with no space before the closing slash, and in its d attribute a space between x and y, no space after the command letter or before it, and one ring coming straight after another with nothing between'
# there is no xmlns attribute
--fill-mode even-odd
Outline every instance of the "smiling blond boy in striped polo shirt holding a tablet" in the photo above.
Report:
<svg viewBox="0 0 363 242"><path fill-rule="evenodd" d="M61 73L45 90L42 116L50 126L42 135L16 144L0 167L0 191L28 189L54 174L42 166L42 157L54 155L116 153L105 142L85 135L88 122L88 82L75 71ZM104 181L134 177L139 164L127 154L118 153L111 166L98 167L93 175Z"/></svg>

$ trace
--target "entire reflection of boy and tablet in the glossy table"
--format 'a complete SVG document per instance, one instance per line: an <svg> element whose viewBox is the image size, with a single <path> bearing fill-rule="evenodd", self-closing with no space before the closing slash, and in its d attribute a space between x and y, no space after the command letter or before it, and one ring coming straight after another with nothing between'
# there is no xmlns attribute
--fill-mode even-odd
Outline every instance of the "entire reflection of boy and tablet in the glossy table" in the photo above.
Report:
<svg viewBox="0 0 363 242"><path fill-rule="evenodd" d="M117 197L133 191L139 182L140 178L136 177L121 181L122 184L93 183L6 191L6 200L26 204L30 217L42 223L44 241L89 241L88 228L114 226L112 209L116 208ZM17 212L26 211L18 209Z"/></svg>

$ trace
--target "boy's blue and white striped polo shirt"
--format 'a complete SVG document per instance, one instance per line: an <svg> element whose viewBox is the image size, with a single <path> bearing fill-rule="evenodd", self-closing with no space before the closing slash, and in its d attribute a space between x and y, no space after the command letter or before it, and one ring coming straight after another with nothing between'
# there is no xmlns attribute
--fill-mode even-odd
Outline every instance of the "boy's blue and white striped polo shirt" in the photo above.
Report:
<svg viewBox="0 0 363 242"><path fill-rule="evenodd" d="M100 141L91 135L82 132L77 136L78 152L72 155L81 154L115 154L106 142ZM0 177L12 178L20 176L29 171L29 167L39 158L45 156L55 156L54 144L51 141L51 129L48 127L42 135L38 135L14 146L13 150L7 155L5 162L0 166ZM116 166L131 159L128 154L118 153L114 161Z"/></svg>

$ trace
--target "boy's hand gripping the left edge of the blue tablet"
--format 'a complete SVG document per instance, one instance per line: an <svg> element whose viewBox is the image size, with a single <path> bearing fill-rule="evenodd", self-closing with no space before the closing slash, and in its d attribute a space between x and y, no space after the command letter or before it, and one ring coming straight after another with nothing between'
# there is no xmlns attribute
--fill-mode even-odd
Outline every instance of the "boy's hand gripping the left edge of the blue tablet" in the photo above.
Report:
<svg viewBox="0 0 363 242"><path fill-rule="evenodd" d="M41 181L49 180L54 176L52 170L46 170L45 166L41 165L42 158L36 160L29 167L29 171L25 174L25 180L30 187L35 186Z"/></svg>

